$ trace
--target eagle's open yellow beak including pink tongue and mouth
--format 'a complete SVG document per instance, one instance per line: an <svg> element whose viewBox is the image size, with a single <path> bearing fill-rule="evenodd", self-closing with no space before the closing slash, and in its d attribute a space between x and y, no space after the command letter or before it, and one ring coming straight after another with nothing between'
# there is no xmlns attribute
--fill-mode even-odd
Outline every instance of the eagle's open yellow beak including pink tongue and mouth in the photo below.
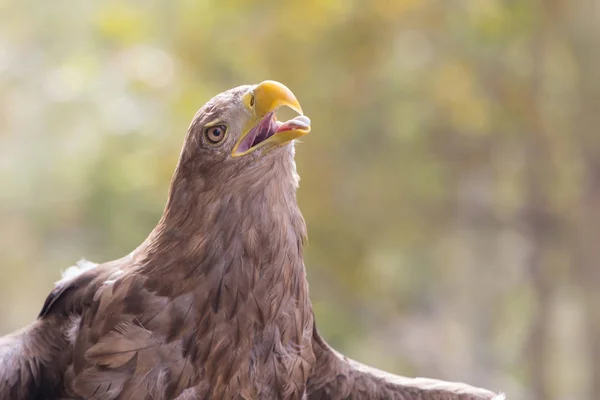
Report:
<svg viewBox="0 0 600 400"><path fill-rule="evenodd" d="M310 119L303 115L296 96L279 82L264 81L256 85L244 95L243 102L252 117L233 147L232 157L243 156L259 148L282 146L310 132ZM281 106L287 106L300 115L286 122L278 121L275 111Z"/></svg>

